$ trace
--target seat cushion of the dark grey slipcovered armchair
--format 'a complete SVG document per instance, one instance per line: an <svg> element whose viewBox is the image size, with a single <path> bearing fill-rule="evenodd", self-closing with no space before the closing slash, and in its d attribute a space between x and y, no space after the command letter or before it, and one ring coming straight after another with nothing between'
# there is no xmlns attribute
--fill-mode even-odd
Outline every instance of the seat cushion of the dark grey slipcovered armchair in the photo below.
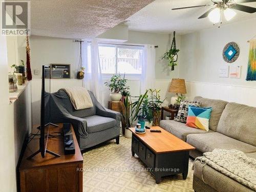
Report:
<svg viewBox="0 0 256 192"><path fill-rule="evenodd" d="M109 117L93 115L84 119L87 120L88 133L100 132L116 126L116 120Z"/></svg>

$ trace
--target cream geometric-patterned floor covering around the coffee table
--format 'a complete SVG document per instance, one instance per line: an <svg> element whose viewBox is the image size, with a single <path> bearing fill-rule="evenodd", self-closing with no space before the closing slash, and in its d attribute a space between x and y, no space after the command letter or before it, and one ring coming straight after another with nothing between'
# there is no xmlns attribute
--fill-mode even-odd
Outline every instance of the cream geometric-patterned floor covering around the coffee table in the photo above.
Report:
<svg viewBox="0 0 256 192"><path fill-rule="evenodd" d="M83 191L194 191L193 160L187 179L182 174L164 177L160 184L146 170L138 156L132 156L131 139L120 137L83 154Z"/></svg>

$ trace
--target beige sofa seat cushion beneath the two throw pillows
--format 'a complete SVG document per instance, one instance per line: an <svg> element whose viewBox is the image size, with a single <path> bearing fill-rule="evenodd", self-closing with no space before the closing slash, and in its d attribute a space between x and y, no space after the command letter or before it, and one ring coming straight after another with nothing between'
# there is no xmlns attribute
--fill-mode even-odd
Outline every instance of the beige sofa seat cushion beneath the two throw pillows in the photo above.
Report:
<svg viewBox="0 0 256 192"><path fill-rule="evenodd" d="M182 139L183 141L186 141L186 136L188 134L193 134L193 133L210 133L212 132L209 130L209 132L192 128L189 126L186 126L185 123L177 122L174 120L161 120L160 121L160 127L162 127L164 130L167 132L175 135L176 137Z"/></svg>

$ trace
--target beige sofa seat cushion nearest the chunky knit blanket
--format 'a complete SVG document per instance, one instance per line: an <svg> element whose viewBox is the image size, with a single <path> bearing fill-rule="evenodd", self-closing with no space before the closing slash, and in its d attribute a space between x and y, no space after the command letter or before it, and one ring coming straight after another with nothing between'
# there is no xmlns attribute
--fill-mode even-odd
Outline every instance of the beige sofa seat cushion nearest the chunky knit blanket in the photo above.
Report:
<svg viewBox="0 0 256 192"><path fill-rule="evenodd" d="M215 148L239 150L244 153L256 152L255 146L225 136L218 132L208 134L190 134L187 136L187 143L193 145L197 150L203 153L212 152Z"/></svg>

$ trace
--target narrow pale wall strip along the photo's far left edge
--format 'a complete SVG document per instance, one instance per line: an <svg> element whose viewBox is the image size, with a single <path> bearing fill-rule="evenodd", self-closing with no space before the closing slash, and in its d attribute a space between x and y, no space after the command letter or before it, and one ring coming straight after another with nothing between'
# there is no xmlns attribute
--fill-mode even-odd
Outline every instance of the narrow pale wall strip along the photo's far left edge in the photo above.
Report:
<svg viewBox="0 0 256 192"><path fill-rule="evenodd" d="M13 108L9 105L6 38L0 36L0 191L16 191Z"/></svg>

